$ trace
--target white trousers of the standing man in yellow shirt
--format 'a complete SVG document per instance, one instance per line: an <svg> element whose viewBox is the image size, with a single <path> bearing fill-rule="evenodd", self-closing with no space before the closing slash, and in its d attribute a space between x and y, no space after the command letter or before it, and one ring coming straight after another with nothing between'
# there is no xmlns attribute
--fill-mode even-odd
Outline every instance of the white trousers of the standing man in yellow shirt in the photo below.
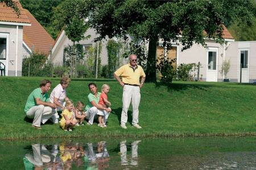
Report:
<svg viewBox="0 0 256 170"><path fill-rule="evenodd" d="M141 101L141 89L139 86L123 86L123 109L121 114L121 123L127 123L127 112L130 106L133 105L133 121L132 124L139 122L139 102Z"/></svg>

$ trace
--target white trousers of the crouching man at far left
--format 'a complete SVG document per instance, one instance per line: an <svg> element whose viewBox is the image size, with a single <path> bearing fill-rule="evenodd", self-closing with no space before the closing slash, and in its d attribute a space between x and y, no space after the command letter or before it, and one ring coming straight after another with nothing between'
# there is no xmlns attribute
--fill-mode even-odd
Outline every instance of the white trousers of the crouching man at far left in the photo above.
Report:
<svg viewBox="0 0 256 170"><path fill-rule="evenodd" d="M34 118L32 125L40 127L41 122L44 124L47 120L49 120L49 118L52 117L53 113L54 109L41 104L30 108L27 111L26 116L28 118Z"/></svg>

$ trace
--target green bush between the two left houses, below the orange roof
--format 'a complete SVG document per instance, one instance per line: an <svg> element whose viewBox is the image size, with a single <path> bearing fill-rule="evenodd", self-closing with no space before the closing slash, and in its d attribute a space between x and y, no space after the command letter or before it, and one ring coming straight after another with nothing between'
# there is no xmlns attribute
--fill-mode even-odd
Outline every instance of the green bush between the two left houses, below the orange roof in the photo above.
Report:
<svg viewBox="0 0 256 170"><path fill-rule="evenodd" d="M52 64L46 63L45 54L33 53L29 58L23 58L22 76L52 76Z"/></svg>

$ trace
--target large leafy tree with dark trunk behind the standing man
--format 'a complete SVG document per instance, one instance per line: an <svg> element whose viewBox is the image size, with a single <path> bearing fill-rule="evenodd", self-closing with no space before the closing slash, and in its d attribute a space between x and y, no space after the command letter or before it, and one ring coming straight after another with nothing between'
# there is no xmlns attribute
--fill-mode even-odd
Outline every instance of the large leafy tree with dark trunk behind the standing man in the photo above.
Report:
<svg viewBox="0 0 256 170"><path fill-rule="evenodd" d="M100 35L97 40L106 36L126 38L130 34L148 41L146 76L151 82L156 81L155 57L159 39L165 44L179 42L184 49L194 43L206 46L205 39L223 43L225 19L250 23L256 14L252 0L77 2L80 4L77 14L89 19L90 26Z"/></svg>

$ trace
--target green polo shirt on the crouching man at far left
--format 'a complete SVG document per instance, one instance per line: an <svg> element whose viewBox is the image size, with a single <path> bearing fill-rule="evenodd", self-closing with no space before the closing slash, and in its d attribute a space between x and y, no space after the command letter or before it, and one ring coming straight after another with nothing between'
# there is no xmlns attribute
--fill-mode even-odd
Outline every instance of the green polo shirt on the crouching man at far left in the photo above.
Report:
<svg viewBox="0 0 256 170"><path fill-rule="evenodd" d="M34 91L31 92L31 94L27 97L27 103L25 105L24 111L27 113L27 111L34 107L36 104L36 98L39 98L41 101L49 102L48 94L43 94L41 88L36 88Z"/></svg>

